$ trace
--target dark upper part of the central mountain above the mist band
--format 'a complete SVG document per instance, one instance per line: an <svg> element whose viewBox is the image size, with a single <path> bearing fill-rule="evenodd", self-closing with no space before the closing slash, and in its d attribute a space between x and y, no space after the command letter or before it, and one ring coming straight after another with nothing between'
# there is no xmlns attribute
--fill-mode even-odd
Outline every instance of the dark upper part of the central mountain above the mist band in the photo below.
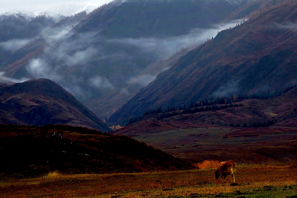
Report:
<svg viewBox="0 0 297 198"><path fill-rule="evenodd" d="M178 36L218 23L248 1L237 2L115 0L75 27L75 31L94 31L108 38Z"/></svg>

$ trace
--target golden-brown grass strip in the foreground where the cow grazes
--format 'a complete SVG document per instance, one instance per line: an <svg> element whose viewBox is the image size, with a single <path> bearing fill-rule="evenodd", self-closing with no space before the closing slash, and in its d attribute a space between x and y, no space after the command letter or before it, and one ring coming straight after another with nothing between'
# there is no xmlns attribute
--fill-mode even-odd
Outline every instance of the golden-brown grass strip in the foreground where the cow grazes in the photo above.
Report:
<svg viewBox="0 0 297 198"><path fill-rule="evenodd" d="M209 169L124 174L63 175L13 179L0 175L0 197L295 197L296 164L238 165L237 186L214 179Z"/></svg>

